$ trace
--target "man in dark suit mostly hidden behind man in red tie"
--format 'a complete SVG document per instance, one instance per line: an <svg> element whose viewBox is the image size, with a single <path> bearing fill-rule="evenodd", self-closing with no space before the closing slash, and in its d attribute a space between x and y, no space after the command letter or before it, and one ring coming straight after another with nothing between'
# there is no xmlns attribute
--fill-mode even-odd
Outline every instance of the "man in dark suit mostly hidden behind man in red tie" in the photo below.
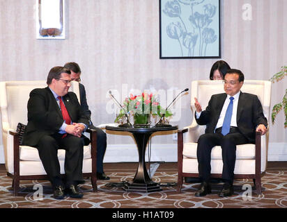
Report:
<svg viewBox="0 0 287 222"><path fill-rule="evenodd" d="M76 62L68 62L64 65L66 69L70 69L71 79L77 82L81 81L82 71ZM81 100L81 108L84 114L88 117L88 128L97 131L97 179L109 180L109 177L104 173L103 160L104 153L107 149L107 135L103 130L93 126L91 121L91 110L88 109L88 103L86 101L86 89L82 83L79 83L79 95Z"/></svg>

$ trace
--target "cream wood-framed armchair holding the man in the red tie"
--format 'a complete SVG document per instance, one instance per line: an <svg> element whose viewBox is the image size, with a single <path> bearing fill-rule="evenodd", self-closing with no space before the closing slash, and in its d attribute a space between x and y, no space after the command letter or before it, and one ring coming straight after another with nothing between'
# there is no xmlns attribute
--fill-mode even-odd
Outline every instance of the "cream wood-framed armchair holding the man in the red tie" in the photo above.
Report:
<svg viewBox="0 0 287 222"><path fill-rule="evenodd" d="M79 98L79 83L72 81L70 91ZM47 87L45 81L10 81L0 83L3 148L8 176L13 178L13 193L17 196L20 180L47 179L37 148L21 146L17 124L27 123L27 102L32 89ZM91 146L84 146L83 176L91 177L93 191L96 179L96 131L91 130ZM64 174L65 150L59 149L61 173Z"/></svg>

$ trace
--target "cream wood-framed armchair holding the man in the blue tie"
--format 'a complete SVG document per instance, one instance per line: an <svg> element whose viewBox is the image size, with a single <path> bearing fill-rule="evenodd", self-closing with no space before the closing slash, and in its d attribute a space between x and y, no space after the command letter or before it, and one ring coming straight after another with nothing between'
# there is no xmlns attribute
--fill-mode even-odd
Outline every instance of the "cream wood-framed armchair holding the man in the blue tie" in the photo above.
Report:
<svg viewBox="0 0 287 222"><path fill-rule="evenodd" d="M263 80L245 80L242 92L256 94L263 106L263 113L267 119L270 115L271 83ZM208 105L212 94L224 92L222 81L198 80L192 81L191 107L194 114L194 97L199 100L203 110ZM178 130L178 191L181 191L183 177L199 177L196 157L197 140L205 133L205 126L199 126L193 118L192 124ZM256 192L261 194L261 176L267 165L267 148L269 133L261 136L256 133L256 144L242 144L236 146L236 162L234 178L249 178L254 180ZM215 146L211 152L211 177L222 177L222 148Z"/></svg>

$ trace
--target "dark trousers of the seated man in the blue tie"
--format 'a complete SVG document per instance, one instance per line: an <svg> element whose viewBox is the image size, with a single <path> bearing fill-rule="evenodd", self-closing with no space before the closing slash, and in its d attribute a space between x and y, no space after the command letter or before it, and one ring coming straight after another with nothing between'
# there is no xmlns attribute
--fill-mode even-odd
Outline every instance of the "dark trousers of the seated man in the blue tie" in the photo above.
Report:
<svg viewBox="0 0 287 222"><path fill-rule="evenodd" d="M234 167L236 160L236 145L247 144L248 139L238 132L237 128L227 135L222 135L221 130L217 133L205 133L199 137L197 144L197 161L199 162L199 177L205 182L210 180L211 150L214 146L222 147L222 179L233 183Z"/></svg>

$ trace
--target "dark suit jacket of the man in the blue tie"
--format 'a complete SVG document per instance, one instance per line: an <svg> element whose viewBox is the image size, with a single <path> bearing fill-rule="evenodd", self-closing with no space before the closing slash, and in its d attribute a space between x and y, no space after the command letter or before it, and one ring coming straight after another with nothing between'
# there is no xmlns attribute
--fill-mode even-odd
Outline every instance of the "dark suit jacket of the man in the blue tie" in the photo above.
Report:
<svg viewBox="0 0 287 222"><path fill-rule="evenodd" d="M205 133L214 133L226 96L225 93L212 95L208 107L201 112L199 119L196 119L199 125L206 125ZM261 102L254 94L240 92L236 120L238 130L250 143L255 142L256 126L264 124L267 128Z"/></svg>

